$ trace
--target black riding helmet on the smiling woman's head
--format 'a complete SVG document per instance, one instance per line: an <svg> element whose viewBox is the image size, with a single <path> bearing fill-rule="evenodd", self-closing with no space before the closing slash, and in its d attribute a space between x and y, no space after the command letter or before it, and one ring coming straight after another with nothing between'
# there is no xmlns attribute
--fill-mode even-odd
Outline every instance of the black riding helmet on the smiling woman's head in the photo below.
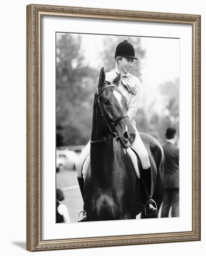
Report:
<svg viewBox="0 0 206 256"><path fill-rule="evenodd" d="M120 42L116 47L114 59L116 59L117 56L123 56L137 60L134 54L134 47L127 40Z"/></svg>

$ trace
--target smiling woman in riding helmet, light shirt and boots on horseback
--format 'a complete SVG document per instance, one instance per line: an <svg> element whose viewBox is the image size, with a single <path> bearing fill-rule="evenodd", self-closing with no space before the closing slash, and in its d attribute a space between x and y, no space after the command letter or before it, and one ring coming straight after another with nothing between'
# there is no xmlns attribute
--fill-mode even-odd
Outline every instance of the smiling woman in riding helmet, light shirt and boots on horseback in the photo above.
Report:
<svg viewBox="0 0 206 256"><path fill-rule="evenodd" d="M146 190L151 198L151 164L149 161L149 156L147 150L145 148L144 143L141 140L139 132L136 128L136 123L134 121L134 117L137 114L138 109L138 98L140 94L140 80L136 76L130 74L130 69L133 66L133 61L137 60L135 57L134 47L127 40L120 42L115 51L115 61L116 68L106 73L106 81L113 82L115 77L118 74L121 74L120 83L118 85L121 93L126 97L127 101L127 116L136 131L135 141L133 146L131 147L137 155L140 157L141 165L143 168L142 177L144 179L144 184L146 184ZM90 142L86 145L84 150L82 151L78 162L76 163L77 169L77 178L80 186L81 195L84 200L84 179L82 177L82 167L83 163L86 160L86 157L90 154ZM147 197L148 198L148 197ZM153 215L157 213L156 203L153 200L148 200L145 202L145 213L146 216ZM88 221L87 213L85 209L85 214L79 222Z"/></svg>

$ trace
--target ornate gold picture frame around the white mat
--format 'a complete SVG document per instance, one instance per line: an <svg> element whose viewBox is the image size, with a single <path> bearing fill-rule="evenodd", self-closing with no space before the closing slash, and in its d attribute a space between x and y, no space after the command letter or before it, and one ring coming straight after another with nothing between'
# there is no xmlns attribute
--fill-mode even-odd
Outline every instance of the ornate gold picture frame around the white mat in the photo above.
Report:
<svg viewBox="0 0 206 256"><path fill-rule="evenodd" d="M191 105L188 115L191 117L191 229L176 232L151 232L147 234L128 234L104 236L82 236L72 234L68 237L45 239L42 223L42 180L44 147L42 146L43 102L47 95L42 93L42 40L45 31L42 29L44 17L58 19L115 20L117 22L146 22L149 24L188 25L192 31L191 49ZM100 28L101 29L101 28ZM82 28L84 33L84 27ZM54 52L51 54L55 54ZM181 51L181 48L180 48ZM181 85L180 85L181 86ZM190 86L190 85L188 85ZM180 98L181 101L181 98ZM54 114L55 115L55 114ZM55 135L54 135L55 136ZM184 145L183 145L184 147ZM53 167L55 168L55 166ZM51 174L52 175L52 174ZM44 181L45 182L45 181ZM55 194L55 193L54 193ZM55 196L54 196L55 199ZM187 201L188 198L184 198ZM146 221L146 220L145 220ZM82 226L89 229L88 225ZM80 223L69 223L78 225ZM120 223L121 225L121 223ZM69 229L69 228L68 228ZM200 15L176 13L152 13L128 10L109 10L84 7L63 7L28 5L27 6L27 250L78 249L106 246L137 245L148 243L171 243L200 240Z"/></svg>

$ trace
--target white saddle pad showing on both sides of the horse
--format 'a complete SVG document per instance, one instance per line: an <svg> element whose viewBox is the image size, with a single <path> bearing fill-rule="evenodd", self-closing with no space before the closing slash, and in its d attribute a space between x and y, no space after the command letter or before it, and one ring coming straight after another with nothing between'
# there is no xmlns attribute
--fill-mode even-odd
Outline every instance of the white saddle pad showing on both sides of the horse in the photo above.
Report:
<svg viewBox="0 0 206 256"><path fill-rule="evenodd" d="M132 148L126 148L124 149L125 155L128 154L132 163L133 163L133 167L135 170L135 173L137 175L137 179L140 179L140 170L139 170L139 166L138 166L138 160L140 161L139 156L136 154L136 152L133 151ZM90 154L87 155L85 162L83 164L83 168L82 168L82 176L83 179L85 180L85 175L86 172L90 169Z"/></svg>

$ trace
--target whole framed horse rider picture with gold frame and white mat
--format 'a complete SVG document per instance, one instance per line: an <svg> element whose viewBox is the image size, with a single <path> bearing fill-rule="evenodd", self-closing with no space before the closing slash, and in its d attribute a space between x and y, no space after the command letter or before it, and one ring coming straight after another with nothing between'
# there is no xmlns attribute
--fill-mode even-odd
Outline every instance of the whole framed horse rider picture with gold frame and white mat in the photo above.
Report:
<svg viewBox="0 0 206 256"><path fill-rule="evenodd" d="M200 240L200 15L27 6L27 250Z"/></svg>

